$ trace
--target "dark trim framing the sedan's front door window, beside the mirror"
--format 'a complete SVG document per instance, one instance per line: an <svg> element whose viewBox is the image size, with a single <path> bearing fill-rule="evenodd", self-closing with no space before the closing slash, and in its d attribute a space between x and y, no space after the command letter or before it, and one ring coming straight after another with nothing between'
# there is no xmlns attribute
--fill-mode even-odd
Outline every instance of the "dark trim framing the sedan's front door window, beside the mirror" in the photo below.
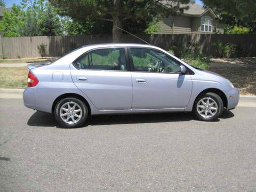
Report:
<svg viewBox="0 0 256 192"><path fill-rule="evenodd" d="M167 55L166 53L164 53L161 50L155 49L153 47L140 47L140 46L129 46L128 48L128 55L129 55L129 61L130 61L130 65L131 65L131 72L136 72L136 73L156 73L156 74L170 74L170 75L180 75L179 73L159 73L159 72L155 72L155 71L137 71L134 69L134 63L133 63L133 59L132 59L132 53L131 53L131 48L137 48L137 49L151 49L151 50L156 50L159 51L161 53L163 53L164 55L166 55L166 57L170 57L171 59L173 59L175 62L179 63L179 65L183 65L183 63L181 63L180 61L176 60L175 58L171 57L170 55ZM185 65L183 65L185 66ZM187 69L187 73L183 74L183 75L194 75L195 73L189 69L187 66L185 66Z"/></svg>

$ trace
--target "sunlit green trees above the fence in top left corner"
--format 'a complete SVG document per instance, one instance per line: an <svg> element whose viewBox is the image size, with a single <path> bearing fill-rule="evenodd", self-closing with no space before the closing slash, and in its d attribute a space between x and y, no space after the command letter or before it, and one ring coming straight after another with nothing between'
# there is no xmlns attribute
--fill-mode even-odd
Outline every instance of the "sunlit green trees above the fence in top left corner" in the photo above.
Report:
<svg viewBox="0 0 256 192"><path fill-rule="evenodd" d="M21 5L14 4L11 12L4 11L0 30L3 37L62 34L57 11L45 0L22 0Z"/></svg>

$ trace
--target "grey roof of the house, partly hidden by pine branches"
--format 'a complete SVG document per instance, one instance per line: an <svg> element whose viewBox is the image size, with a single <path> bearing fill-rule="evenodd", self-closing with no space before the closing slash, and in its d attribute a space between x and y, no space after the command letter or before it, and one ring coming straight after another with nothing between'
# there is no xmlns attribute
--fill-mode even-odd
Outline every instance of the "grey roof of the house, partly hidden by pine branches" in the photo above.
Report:
<svg viewBox="0 0 256 192"><path fill-rule="evenodd" d="M168 3L166 0L162 0L161 3L165 6L169 6L170 3ZM196 3L189 3L189 4L180 4L180 7L187 7L189 8L187 10L183 10L184 15L189 15L191 17L201 17L206 12L210 11L215 18L217 18L217 15L212 11L212 9L206 9L205 7L196 4Z"/></svg>

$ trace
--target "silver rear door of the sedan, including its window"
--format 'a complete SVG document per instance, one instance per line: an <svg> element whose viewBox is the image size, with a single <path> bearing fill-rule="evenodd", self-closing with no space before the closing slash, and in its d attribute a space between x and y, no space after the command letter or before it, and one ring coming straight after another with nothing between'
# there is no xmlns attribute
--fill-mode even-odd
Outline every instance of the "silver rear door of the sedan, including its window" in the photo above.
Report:
<svg viewBox="0 0 256 192"><path fill-rule="evenodd" d="M99 110L131 109L132 79L125 47L89 51L71 65L73 82Z"/></svg>

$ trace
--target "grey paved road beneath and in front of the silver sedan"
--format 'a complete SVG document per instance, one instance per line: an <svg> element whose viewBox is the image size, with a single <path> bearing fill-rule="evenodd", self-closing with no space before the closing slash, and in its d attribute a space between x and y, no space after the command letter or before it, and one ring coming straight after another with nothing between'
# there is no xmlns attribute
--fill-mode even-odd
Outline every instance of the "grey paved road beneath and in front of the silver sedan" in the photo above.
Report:
<svg viewBox="0 0 256 192"><path fill-rule="evenodd" d="M0 99L0 191L256 191L256 108L95 116L79 129Z"/></svg>

